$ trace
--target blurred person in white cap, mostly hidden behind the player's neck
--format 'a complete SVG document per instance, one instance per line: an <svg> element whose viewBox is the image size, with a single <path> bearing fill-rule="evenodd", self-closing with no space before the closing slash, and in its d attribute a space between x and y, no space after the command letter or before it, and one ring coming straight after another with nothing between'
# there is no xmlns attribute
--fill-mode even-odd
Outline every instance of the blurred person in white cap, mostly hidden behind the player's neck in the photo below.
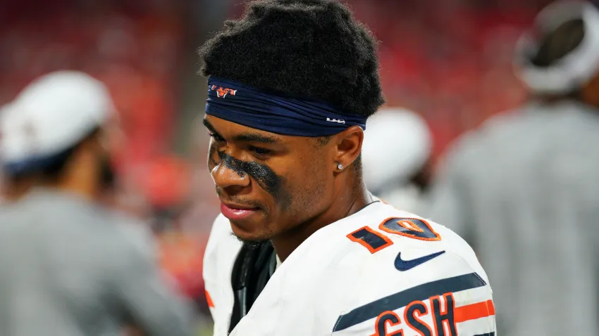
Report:
<svg viewBox="0 0 599 336"><path fill-rule="evenodd" d="M362 144L364 182L397 209L420 213L431 179L431 131L416 112L381 108Z"/></svg>

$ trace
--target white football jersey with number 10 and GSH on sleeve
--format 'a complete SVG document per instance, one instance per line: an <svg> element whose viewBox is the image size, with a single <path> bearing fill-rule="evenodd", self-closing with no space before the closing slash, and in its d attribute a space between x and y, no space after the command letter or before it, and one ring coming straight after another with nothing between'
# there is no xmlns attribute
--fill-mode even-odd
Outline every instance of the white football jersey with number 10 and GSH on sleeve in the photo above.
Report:
<svg viewBox="0 0 599 336"><path fill-rule="evenodd" d="M228 332L241 246L219 216L204 257L215 336ZM495 309L486 273L462 238L374 202L297 247L230 335L492 336Z"/></svg>

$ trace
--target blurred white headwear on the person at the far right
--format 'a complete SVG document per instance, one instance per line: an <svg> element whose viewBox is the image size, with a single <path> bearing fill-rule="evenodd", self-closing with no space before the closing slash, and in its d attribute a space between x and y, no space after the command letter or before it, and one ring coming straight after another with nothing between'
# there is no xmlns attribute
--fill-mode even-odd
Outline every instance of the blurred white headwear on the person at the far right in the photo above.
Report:
<svg viewBox="0 0 599 336"><path fill-rule="evenodd" d="M579 46L549 67L533 65L530 56L541 47L536 35L550 34L575 19L584 23L584 36ZM517 76L533 92L556 94L581 88L599 70L599 11L586 1L566 0L550 4L537 15L533 32L522 34L514 56Z"/></svg>

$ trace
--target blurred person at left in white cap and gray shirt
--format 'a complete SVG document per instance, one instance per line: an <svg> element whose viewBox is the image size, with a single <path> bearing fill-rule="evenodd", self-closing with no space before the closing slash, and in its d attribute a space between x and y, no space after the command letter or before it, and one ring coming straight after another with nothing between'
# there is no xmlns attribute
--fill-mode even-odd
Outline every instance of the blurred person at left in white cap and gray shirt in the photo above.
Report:
<svg viewBox="0 0 599 336"><path fill-rule="evenodd" d="M0 115L0 335L191 335L144 224L100 204L113 105L81 72L45 75Z"/></svg>

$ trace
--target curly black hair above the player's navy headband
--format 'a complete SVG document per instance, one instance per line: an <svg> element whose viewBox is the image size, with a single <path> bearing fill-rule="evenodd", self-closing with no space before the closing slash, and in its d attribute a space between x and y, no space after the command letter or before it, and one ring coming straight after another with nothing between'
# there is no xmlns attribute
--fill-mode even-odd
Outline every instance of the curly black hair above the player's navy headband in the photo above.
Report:
<svg viewBox="0 0 599 336"><path fill-rule="evenodd" d="M335 0L260 0L199 48L204 76L369 117L383 105L376 41Z"/></svg>

